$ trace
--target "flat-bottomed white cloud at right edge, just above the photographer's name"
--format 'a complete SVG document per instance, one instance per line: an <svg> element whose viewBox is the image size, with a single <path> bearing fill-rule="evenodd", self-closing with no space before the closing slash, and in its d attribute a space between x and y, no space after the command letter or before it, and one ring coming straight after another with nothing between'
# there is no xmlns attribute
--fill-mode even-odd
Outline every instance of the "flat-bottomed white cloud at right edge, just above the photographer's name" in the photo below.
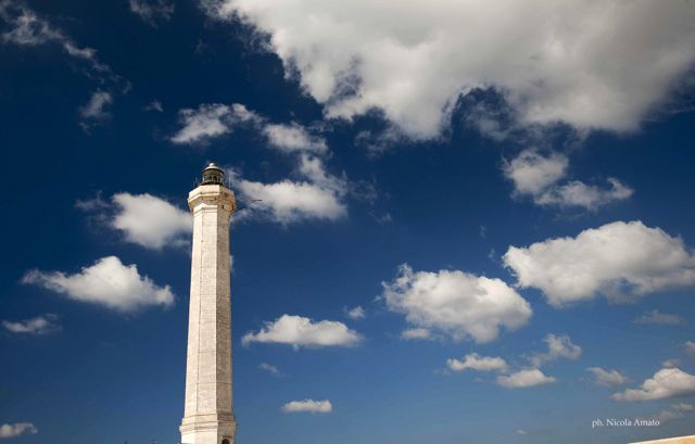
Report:
<svg viewBox="0 0 695 444"><path fill-rule="evenodd" d="M616 401L650 401L695 394L695 376L678 368L662 368L642 383L611 397Z"/></svg>

